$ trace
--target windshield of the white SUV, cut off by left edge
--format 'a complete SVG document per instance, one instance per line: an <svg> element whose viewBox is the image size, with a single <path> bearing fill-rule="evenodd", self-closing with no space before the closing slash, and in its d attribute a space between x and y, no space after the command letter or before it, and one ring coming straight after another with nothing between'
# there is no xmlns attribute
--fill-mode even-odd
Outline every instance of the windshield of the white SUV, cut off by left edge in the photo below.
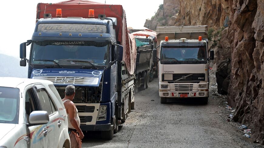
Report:
<svg viewBox="0 0 264 148"><path fill-rule="evenodd" d="M0 87L0 123L18 123L19 89Z"/></svg>

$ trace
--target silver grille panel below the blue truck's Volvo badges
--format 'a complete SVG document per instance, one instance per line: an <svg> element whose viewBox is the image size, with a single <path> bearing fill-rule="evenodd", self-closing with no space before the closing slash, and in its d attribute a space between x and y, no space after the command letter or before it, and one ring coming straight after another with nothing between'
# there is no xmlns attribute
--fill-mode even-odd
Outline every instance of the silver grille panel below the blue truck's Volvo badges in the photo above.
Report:
<svg viewBox="0 0 264 148"><path fill-rule="evenodd" d="M98 77L32 77L33 79L48 80L53 84L98 84Z"/></svg>

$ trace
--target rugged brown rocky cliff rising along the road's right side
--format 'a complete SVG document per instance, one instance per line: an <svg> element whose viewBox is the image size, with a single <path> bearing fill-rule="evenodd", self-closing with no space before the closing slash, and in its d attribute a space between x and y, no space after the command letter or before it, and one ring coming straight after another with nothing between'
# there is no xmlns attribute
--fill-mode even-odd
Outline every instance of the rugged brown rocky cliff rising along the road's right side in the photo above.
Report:
<svg viewBox="0 0 264 148"><path fill-rule="evenodd" d="M164 10L167 2L177 3L178 14L172 13L164 26L224 28L209 41L209 49L215 51L211 65L217 68L218 93L228 94L228 104L236 109L233 120L247 125L252 138L264 144L264 1L164 0ZM164 10L156 15L165 16Z"/></svg>

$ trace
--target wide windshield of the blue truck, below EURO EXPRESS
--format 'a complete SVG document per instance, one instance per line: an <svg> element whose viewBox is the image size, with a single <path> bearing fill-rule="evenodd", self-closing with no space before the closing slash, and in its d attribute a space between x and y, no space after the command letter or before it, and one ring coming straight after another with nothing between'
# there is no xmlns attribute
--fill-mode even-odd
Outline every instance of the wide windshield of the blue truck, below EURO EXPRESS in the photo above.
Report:
<svg viewBox="0 0 264 148"><path fill-rule="evenodd" d="M33 41L30 60L36 65L106 66L109 46L95 41Z"/></svg>

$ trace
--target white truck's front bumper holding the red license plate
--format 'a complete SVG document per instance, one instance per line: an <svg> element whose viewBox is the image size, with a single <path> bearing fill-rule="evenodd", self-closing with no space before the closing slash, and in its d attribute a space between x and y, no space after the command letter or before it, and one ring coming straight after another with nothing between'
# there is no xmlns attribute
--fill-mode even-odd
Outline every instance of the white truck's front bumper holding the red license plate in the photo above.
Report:
<svg viewBox="0 0 264 148"><path fill-rule="evenodd" d="M165 93L165 95L164 95ZM168 95L166 95L166 93L168 93ZM200 94L203 94L204 95L200 95ZM182 96L184 97L209 97L209 92L208 91L191 91L191 92L171 92L171 91L168 91L168 92L161 92L159 91L159 96L160 97L174 97L174 98L184 98L184 97L181 97L181 94L184 94ZM187 94L187 95L186 95Z"/></svg>

